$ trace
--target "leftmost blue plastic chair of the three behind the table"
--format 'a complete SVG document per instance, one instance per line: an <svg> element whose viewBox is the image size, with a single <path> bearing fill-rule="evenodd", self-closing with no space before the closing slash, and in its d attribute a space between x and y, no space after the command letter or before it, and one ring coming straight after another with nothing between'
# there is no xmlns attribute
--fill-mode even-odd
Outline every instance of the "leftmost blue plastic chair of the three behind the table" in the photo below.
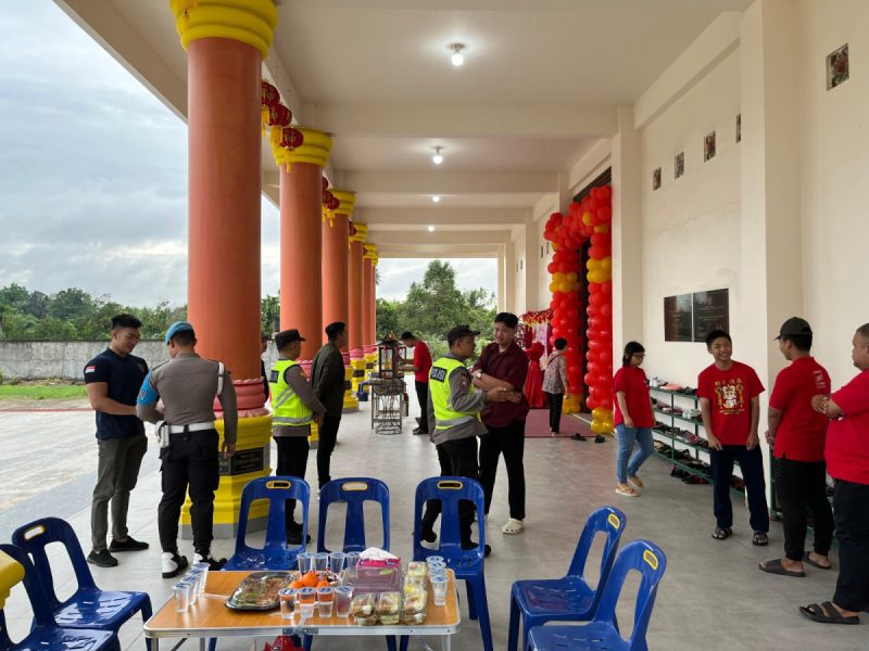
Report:
<svg viewBox="0 0 869 651"><path fill-rule="evenodd" d="M248 516L251 505L257 499L268 500L268 522L265 532L265 546L249 547L244 537L248 533ZM287 523L285 512L287 500L302 502L302 544L295 547L287 545ZM238 514L238 534L236 551L224 570L292 570L297 565L295 557L305 548L307 539L307 505L311 500L311 488L307 482L291 476L256 477L244 485L241 492L241 506Z"/></svg>

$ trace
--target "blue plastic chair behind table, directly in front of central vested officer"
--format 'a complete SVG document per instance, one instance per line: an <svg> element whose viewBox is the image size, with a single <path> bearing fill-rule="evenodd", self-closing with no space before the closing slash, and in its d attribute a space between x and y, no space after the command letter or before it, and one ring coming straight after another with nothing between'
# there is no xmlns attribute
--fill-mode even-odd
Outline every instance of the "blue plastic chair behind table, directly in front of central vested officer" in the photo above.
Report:
<svg viewBox="0 0 869 651"><path fill-rule="evenodd" d="M420 538L423 510L429 500L441 501L441 532L438 549L423 547ZM458 502L469 500L477 509L479 540L474 549L462 549L458 524ZM489 602L486 598L486 576L483 574L486 526L482 486L467 477L429 477L416 487L414 506L414 560L425 561L430 556L442 556L446 565L455 572L456 579L463 579L467 587L468 616L479 618L480 635L484 651L492 651L492 628L489 623ZM407 637L401 638L401 649L407 649Z"/></svg>

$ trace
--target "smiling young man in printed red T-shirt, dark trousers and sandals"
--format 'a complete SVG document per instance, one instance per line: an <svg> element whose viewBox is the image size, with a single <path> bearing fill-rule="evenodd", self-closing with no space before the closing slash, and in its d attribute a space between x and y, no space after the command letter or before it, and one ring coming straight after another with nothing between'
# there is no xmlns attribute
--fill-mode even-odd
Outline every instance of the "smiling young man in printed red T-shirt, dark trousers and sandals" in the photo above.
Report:
<svg viewBox="0 0 869 651"><path fill-rule="evenodd" d="M764 385L752 367L732 359L733 343L723 330L714 330L706 336L706 349L715 363L697 378L697 397L713 471L713 538L723 540L733 534L730 482L733 462L739 461L748 496L752 544L769 545L764 457L757 436Z"/></svg>

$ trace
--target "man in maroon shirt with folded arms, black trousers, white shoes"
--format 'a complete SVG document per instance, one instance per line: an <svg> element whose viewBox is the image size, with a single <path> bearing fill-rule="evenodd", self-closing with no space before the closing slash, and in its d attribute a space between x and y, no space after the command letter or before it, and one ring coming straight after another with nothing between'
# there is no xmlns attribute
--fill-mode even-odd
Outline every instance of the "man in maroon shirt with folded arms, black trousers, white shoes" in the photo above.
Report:
<svg viewBox="0 0 869 651"><path fill-rule="evenodd" d="M489 405L482 411L488 434L480 439L480 483L486 496L486 513L492 503L498 459L503 452L507 467L509 519L505 534L518 534L525 527L525 419L528 400L522 386L528 375L528 357L516 344L519 318L511 312L495 315L494 342L486 346L471 369L474 385L483 391L499 386L517 394L515 401Z"/></svg>

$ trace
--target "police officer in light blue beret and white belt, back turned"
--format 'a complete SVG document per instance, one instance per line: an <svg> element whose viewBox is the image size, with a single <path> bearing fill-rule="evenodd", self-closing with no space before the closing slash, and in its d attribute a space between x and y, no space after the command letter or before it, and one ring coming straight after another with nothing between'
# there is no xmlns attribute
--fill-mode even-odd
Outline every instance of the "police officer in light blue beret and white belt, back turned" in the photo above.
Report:
<svg viewBox="0 0 869 651"><path fill-rule="evenodd" d="M215 395L224 410L226 458L236 451L238 409L229 371L223 363L197 355L196 333L190 323L173 323L165 342L171 359L146 376L136 413L151 423L165 421L158 427L163 473L158 529L163 548L163 578L169 578L187 566L187 558L178 554L178 518L188 489L192 502L193 562L204 561L214 570L225 562L211 558L214 492L221 481ZM163 411L156 407L159 399L163 400Z"/></svg>

